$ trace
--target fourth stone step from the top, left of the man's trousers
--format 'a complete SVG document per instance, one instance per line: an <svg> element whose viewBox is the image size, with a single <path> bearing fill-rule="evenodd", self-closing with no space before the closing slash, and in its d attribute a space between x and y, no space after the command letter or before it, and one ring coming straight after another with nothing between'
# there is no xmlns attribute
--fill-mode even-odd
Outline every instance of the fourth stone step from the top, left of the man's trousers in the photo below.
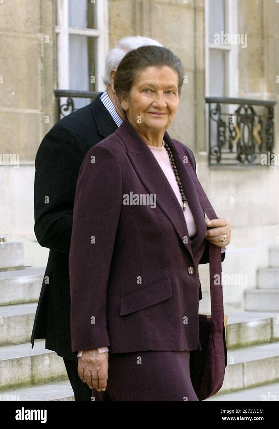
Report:
<svg viewBox="0 0 279 429"><path fill-rule="evenodd" d="M0 390L67 380L63 358L45 349L45 340L0 347Z"/></svg>

